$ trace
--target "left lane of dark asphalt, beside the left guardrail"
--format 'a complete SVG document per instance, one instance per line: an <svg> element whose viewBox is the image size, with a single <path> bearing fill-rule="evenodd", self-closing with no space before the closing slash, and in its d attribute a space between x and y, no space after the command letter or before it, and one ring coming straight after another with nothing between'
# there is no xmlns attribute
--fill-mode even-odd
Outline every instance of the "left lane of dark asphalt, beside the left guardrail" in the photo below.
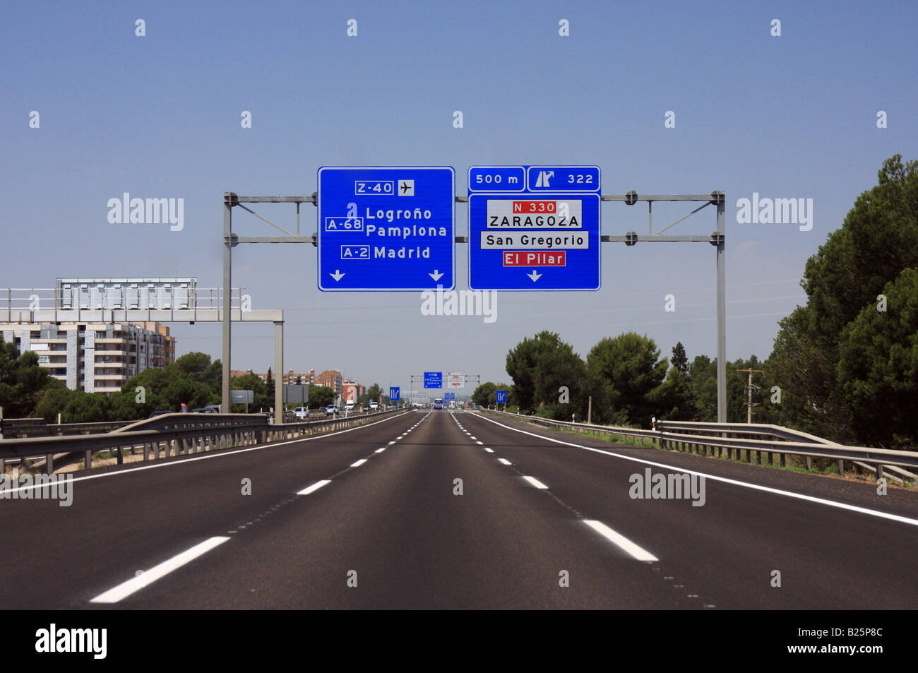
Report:
<svg viewBox="0 0 918 673"><path fill-rule="evenodd" d="M83 608L156 559L244 530L266 510L289 504L304 481L349 469L378 447L378 437L394 439L418 418L405 413L308 440L77 477L70 507L0 499L0 527L10 541L0 547L0 600L14 609ZM244 478L252 495L242 495Z"/></svg>

